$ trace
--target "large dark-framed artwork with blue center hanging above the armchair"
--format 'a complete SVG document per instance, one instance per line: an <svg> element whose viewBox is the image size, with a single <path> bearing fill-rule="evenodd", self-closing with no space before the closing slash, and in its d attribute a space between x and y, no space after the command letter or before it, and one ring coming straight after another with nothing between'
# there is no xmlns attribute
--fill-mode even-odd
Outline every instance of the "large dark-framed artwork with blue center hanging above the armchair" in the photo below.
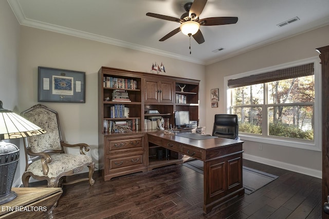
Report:
<svg viewBox="0 0 329 219"><path fill-rule="evenodd" d="M85 72L39 66L38 102L85 103Z"/></svg>

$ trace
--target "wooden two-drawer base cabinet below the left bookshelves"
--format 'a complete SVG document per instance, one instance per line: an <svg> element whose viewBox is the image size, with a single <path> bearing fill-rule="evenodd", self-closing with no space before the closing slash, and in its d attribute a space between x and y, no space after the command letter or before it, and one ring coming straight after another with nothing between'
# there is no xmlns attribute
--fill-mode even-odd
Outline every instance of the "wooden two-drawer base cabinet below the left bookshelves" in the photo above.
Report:
<svg viewBox="0 0 329 219"><path fill-rule="evenodd" d="M103 151L104 181L120 175L147 171L144 134L105 136Z"/></svg>

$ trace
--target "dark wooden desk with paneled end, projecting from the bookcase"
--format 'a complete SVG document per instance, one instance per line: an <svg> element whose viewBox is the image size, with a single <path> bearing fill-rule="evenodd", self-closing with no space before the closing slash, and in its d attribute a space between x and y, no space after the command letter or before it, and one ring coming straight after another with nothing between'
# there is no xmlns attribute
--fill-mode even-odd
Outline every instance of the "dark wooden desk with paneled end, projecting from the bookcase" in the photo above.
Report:
<svg viewBox="0 0 329 219"><path fill-rule="evenodd" d="M243 195L242 143L227 138L193 140L187 137L148 133L148 142L204 162L204 213L236 195Z"/></svg>

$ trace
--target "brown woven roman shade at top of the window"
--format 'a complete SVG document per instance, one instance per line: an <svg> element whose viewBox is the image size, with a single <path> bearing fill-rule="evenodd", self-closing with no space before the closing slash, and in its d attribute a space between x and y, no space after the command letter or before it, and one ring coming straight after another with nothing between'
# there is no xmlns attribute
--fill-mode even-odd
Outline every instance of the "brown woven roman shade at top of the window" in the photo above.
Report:
<svg viewBox="0 0 329 219"><path fill-rule="evenodd" d="M230 79L227 82L229 88L237 88L248 85L256 85L266 82L280 81L284 79L302 77L314 74L314 63L309 63L301 66L295 66L275 71L254 74L247 77Z"/></svg>

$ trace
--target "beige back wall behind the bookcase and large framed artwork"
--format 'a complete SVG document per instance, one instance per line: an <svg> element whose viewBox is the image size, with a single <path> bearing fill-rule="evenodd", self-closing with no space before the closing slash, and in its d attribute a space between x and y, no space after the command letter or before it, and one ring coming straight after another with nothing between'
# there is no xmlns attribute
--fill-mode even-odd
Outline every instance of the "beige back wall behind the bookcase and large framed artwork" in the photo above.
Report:
<svg viewBox="0 0 329 219"><path fill-rule="evenodd" d="M152 63L163 63L166 75L201 80L200 106L205 106L205 66L90 41L74 36L21 27L19 107L38 104L38 66L86 72L86 103L42 103L60 115L65 141L87 143L98 167L97 72L101 66L150 72ZM205 126L205 108L200 107L200 125Z"/></svg>

